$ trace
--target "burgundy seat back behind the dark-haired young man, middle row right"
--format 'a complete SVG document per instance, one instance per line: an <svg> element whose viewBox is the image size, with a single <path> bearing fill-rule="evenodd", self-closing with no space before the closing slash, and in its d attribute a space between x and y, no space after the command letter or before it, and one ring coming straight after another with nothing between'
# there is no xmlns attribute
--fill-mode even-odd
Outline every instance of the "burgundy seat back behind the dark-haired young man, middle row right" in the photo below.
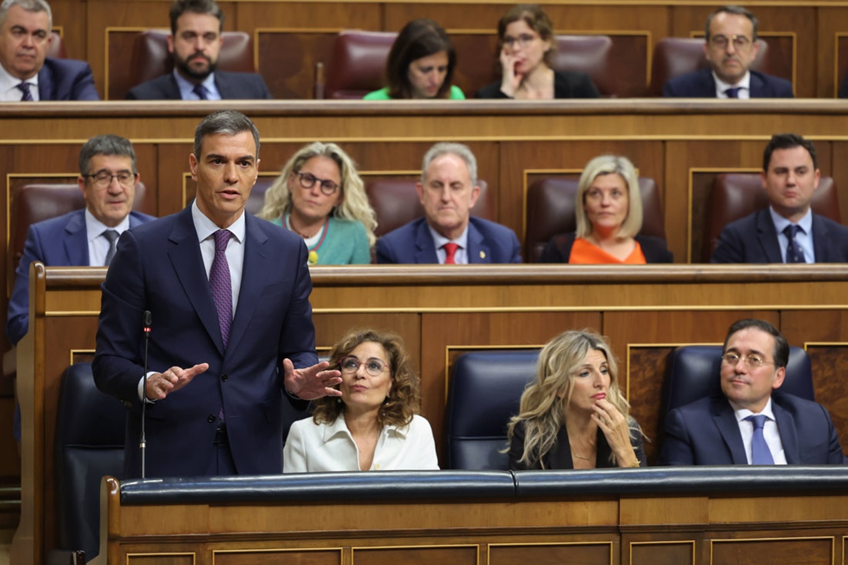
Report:
<svg viewBox="0 0 848 565"><path fill-rule="evenodd" d="M812 195L812 211L833 221L840 222L840 203L836 183L829 176L818 181ZM731 221L744 218L768 205L766 191L762 187L760 173L726 173L718 175L712 182L712 190L706 205L704 223L704 245L700 260L710 262L712 252L718 245L718 236Z"/></svg>

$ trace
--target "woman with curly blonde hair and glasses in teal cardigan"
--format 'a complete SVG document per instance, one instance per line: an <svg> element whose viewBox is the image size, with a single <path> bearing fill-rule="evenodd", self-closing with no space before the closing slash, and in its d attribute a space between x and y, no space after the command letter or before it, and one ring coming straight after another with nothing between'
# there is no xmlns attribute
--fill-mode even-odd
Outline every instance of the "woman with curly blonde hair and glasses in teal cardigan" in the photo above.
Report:
<svg viewBox="0 0 848 565"><path fill-rule="evenodd" d="M310 265L371 262L374 210L354 161L335 143L310 143L288 159L259 217L304 238Z"/></svg>

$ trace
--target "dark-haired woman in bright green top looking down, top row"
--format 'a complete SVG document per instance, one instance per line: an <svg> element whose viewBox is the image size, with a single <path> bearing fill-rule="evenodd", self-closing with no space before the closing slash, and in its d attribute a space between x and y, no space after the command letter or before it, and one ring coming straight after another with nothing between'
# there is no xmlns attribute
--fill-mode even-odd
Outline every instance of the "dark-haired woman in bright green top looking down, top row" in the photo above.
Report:
<svg viewBox="0 0 848 565"><path fill-rule="evenodd" d="M465 100L460 88L450 84L455 68L456 50L442 26L433 20L412 20L388 52L388 87L365 94L365 100Z"/></svg>

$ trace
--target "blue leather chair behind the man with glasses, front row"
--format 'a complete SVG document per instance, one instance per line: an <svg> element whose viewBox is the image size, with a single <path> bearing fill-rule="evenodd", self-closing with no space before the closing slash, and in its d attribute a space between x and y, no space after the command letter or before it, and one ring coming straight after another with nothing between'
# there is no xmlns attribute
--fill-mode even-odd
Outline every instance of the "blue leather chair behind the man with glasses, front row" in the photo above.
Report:
<svg viewBox="0 0 848 565"><path fill-rule="evenodd" d="M722 365L721 345L685 345L672 350L666 372L666 402L663 415L673 408L705 396L722 394L718 378ZM774 394L789 393L813 398L810 356L800 347L789 347L784 383Z"/></svg>

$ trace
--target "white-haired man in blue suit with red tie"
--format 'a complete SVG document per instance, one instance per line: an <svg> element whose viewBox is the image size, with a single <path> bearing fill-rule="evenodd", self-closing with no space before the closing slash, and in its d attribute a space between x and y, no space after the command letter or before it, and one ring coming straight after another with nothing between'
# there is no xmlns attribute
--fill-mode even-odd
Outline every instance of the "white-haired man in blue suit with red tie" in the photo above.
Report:
<svg viewBox="0 0 848 565"><path fill-rule="evenodd" d="M515 232L471 217L477 203L477 159L461 143L437 143L424 155L416 184L424 217L377 241L377 263L521 263Z"/></svg>

